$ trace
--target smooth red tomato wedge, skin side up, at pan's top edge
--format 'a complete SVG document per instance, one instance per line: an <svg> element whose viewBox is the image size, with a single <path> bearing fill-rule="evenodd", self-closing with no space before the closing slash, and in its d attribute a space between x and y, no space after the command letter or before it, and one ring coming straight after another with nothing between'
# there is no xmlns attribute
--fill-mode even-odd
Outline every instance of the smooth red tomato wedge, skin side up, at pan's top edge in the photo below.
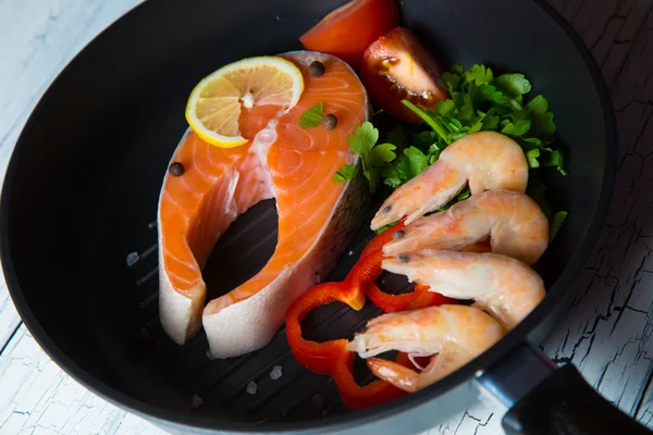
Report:
<svg viewBox="0 0 653 435"><path fill-rule="evenodd" d="M358 71L369 45L398 25L396 0L353 0L324 16L299 41L305 49L336 55Z"/></svg>

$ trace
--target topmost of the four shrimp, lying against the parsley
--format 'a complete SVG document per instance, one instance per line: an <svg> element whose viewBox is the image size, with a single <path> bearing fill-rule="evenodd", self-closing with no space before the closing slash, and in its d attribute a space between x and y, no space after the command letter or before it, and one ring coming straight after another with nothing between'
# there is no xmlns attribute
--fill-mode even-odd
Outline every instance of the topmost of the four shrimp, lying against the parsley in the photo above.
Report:
<svg viewBox="0 0 653 435"><path fill-rule="evenodd" d="M496 132L465 136L442 151L420 175L396 189L372 219L371 228L406 217L406 225L451 201L469 182L471 195L484 190L526 191L528 162L521 147Z"/></svg>

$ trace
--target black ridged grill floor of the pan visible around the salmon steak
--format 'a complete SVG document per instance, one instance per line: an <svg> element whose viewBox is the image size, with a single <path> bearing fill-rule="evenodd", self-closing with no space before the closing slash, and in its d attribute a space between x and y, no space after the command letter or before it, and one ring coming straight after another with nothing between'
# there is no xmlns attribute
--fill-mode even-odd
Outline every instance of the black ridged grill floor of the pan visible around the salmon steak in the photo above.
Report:
<svg viewBox="0 0 653 435"><path fill-rule="evenodd" d="M368 213L371 216L371 213ZM369 219L366 221L369 221ZM156 223L155 223L156 225ZM150 226L150 229L155 225ZM156 229L156 227L153 228ZM364 225L355 240L342 257L329 279L340 279L349 270L373 234ZM144 232L145 233L145 232ZM156 240L156 231L149 231ZM274 201L267 200L243 214L218 241L213 254L207 262L204 277L209 294L207 300L229 291L254 276L267 262L276 245L276 212ZM153 247L153 249L152 249ZM330 376L306 370L293 357L282 326L271 343L257 351L225 360L207 357L208 341L204 332L184 346L177 346L168 337L158 319L158 269L157 245L138 252L134 261L126 258L126 268L134 274L137 297L140 301L143 326L134 333L135 340L157 359L167 361L172 370L183 372L196 391L188 397L192 412L210 417L215 408L227 410L242 420L262 423L266 421L316 419L346 412L341 403L337 388ZM128 254L127 254L128 256ZM238 268L243 263L245 268ZM152 269L153 268L153 269ZM155 273L152 273L152 271ZM221 279L229 275L229 281ZM324 340L335 337L352 337L367 319L381 311L367 303L355 312L350 308L331 303L309 315L306 334L312 339ZM141 351L140 349L136 352ZM275 365L282 368L282 376L272 380L270 373ZM369 382L371 376L365 376ZM365 382L364 381L364 382ZM247 388L255 383L256 393ZM321 395L323 400L311 398ZM195 399L194 399L195 397ZM201 405L193 406L193 400Z"/></svg>

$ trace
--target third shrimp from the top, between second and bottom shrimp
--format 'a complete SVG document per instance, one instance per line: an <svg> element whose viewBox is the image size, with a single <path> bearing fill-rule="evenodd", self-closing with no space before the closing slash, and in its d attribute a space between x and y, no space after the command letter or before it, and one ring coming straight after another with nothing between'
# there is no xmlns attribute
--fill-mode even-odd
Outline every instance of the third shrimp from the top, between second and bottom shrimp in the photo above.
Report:
<svg viewBox="0 0 653 435"><path fill-rule="evenodd" d="M519 260L496 253L424 249L385 259L381 266L428 285L431 291L472 299L506 331L515 327L542 299L545 290L535 271Z"/></svg>

